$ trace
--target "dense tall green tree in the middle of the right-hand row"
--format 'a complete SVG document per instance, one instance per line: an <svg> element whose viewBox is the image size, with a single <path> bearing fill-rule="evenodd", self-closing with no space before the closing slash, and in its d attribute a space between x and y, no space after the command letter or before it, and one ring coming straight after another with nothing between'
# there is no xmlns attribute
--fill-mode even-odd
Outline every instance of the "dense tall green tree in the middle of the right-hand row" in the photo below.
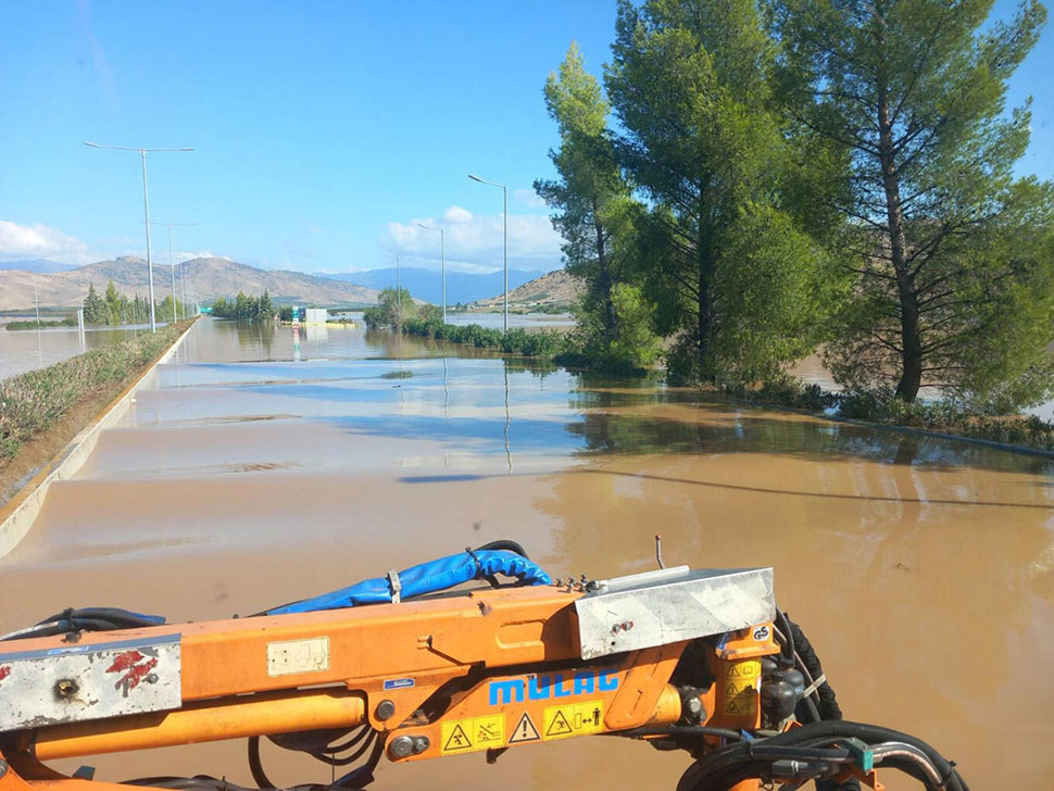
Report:
<svg viewBox="0 0 1054 791"><path fill-rule="evenodd" d="M780 371L821 340L820 296L838 291L810 236L829 216L781 200L801 176L753 0L623 0L613 52L616 150L651 201L636 247L655 327L676 338L670 367L705 380Z"/></svg>

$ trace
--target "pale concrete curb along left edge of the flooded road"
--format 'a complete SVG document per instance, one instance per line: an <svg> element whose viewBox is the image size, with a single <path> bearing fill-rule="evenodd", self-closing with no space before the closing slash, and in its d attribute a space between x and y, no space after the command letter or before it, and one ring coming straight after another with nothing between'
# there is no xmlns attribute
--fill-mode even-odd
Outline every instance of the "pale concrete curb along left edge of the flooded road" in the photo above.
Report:
<svg viewBox="0 0 1054 791"><path fill-rule="evenodd" d="M195 323L197 323L197 319L195 319ZM80 429L47 466L42 467L14 497L0 506L0 557L17 547L18 542L29 532L40 514L40 508L43 507L51 485L55 481L67 480L77 474L95 449L99 434L124 417L139 386L154 373L159 365L172 359L191 329L193 329L193 324L187 327L161 356L136 377L135 381L128 385L87 426Z"/></svg>

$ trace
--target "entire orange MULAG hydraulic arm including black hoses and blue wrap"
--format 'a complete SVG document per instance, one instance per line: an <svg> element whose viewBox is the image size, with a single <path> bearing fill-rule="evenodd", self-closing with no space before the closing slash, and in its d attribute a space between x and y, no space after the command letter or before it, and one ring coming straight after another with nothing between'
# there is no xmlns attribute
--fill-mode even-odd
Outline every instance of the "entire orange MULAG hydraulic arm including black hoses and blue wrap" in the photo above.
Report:
<svg viewBox="0 0 1054 791"><path fill-rule="evenodd" d="M605 734L689 752L685 791L813 779L877 789L882 763L929 788L965 788L925 743L831 718L833 695L795 648L771 569L552 583L525 561L498 550L436 562L464 575L443 587L479 578L489 589L428 593L425 564L253 617L67 612L11 635L0 641L0 791L77 791L83 778L43 765L57 758L222 739L249 738L261 788L272 786L259 751L268 737L356 767L334 786L357 789L385 757L481 752L492 763ZM519 582L498 586L495 573Z"/></svg>

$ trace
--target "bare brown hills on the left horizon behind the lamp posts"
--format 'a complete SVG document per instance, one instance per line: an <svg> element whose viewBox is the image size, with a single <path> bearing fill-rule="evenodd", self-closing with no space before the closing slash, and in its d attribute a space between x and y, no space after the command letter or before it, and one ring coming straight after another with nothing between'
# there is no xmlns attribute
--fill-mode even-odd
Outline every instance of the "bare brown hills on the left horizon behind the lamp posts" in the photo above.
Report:
<svg viewBox="0 0 1054 791"><path fill-rule="evenodd" d="M193 285L199 302L233 297L238 291L259 294L264 289L273 299L284 303L354 305L377 301L377 291L372 288L302 272L259 269L229 259L191 259L177 264L175 274L176 292L179 292L179 278L184 276L188 285ZM167 266L156 263L153 276L154 296L160 302L171 290L172 276ZM92 284L97 291L102 291L111 279L121 293L146 297L149 288L147 262L136 256L123 256L53 274L0 271L0 310L32 306L34 285L41 306L73 307L80 302L81 288L87 291L88 285Z"/></svg>

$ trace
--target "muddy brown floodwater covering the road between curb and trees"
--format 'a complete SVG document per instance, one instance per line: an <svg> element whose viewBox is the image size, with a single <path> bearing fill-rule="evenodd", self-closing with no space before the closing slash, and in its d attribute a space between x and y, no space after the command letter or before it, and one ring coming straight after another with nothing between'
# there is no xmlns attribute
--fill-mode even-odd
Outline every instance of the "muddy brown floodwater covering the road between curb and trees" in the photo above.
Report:
<svg viewBox="0 0 1054 791"><path fill-rule="evenodd" d="M256 612L495 538L554 576L628 574L662 532L667 562L774 566L848 718L931 741L975 789L1054 780L1050 462L353 329L190 332L0 561L0 631L70 605ZM61 768L81 763L251 782L240 742ZM382 762L376 788L672 790L687 764L578 739Z"/></svg>

